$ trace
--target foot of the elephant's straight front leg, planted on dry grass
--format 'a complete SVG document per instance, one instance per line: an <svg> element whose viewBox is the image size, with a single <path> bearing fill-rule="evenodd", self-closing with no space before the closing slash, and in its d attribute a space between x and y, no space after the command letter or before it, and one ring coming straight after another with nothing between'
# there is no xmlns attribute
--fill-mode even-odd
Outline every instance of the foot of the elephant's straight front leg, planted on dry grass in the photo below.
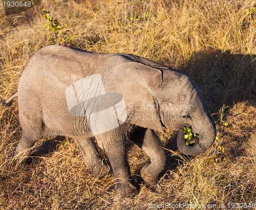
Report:
<svg viewBox="0 0 256 210"><path fill-rule="evenodd" d="M138 195L139 191L135 186L135 183L132 183L131 180L119 181L115 185L116 194L131 197Z"/></svg>

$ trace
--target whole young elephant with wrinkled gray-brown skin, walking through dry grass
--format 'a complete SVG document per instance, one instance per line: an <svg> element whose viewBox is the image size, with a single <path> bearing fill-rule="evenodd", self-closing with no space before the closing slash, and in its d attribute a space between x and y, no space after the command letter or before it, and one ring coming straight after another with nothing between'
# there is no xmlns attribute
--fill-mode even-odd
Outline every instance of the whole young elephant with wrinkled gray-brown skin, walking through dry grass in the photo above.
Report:
<svg viewBox="0 0 256 210"><path fill-rule="evenodd" d="M141 176L151 185L157 183L166 163L164 149L153 129L163 132L163 124L180 130L178 147L184 154L195 155L208 149L215 140L216 127L198 86L182 73L156 68L164 66L138 58L145 64L132 55L95 54L58 45L34 53L18 85L19 122L23 132L15 154L30 148L37 139L68 136L75 139L91 172L104 175L110 168L96 149L95 137L110 160L116 193L132 196L138 194L138 189L127 164L126 138L150 157L151 162L141 169ZM87 118L69 113L65 90L75 81L98 73L106 92L123 95L127 120L113 130L92 136ZM185 126L191 126L199 135L199 143L185 144L181 130Z"/></svg>

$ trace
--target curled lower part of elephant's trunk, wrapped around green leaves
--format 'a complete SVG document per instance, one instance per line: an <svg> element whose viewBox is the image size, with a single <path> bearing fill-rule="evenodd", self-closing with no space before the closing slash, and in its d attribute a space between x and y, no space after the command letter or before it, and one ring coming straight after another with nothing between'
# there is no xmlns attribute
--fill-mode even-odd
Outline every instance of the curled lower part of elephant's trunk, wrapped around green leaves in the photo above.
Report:
<svg viewBox="0 0 256 210"><path fill-rule="evenodd" d="M177 144L179 150L186 155L196 155L207 150L215 141L216 126L213 121L206 124L204 127L193 126L193 131L198 134L199 141L193 145L186 145L185 133L183 129L178 132Z"/></svg>

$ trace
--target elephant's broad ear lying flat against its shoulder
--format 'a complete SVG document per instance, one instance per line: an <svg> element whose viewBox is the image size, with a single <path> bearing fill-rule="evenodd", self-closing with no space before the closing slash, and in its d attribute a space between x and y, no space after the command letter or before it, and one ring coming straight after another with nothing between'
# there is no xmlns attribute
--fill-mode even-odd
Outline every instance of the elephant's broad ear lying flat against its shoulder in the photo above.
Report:
<svg viewBox="0 0 256 210"><path fill-rule="evenodd" d="M159 104L152 95L156 87L150 85L152 81L161 80L161 76L159 69L137 62L121 63L104 75L106 92L118 92L123 96L126 123L163 132Z"/></svg>

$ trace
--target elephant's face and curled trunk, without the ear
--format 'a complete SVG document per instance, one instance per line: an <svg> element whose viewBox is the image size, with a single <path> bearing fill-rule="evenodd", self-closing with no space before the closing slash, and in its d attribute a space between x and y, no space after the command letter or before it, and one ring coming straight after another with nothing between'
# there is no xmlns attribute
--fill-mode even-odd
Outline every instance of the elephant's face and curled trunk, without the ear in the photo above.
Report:
<svg viewBox="0 0 256 210"><path fill-rule="evenodd" d="M155 90L159 104L159 117L163 125L179 130L177 144L187 155L207 150L216 137L216 126L202 92L193 80L176 71L164 71L159 89ZM191 126L199 141L186 145L183 127Z"/></svg>

